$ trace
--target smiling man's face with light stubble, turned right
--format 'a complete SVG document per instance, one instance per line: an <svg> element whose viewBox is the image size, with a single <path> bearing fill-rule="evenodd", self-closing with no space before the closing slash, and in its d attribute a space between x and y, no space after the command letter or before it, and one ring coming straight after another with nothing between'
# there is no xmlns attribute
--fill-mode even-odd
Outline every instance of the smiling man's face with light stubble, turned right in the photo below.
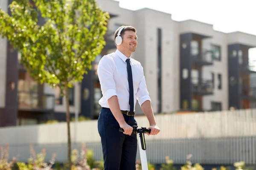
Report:
<svg viewBox="0 0 256 170"><path fill-rule="evenodd" d="M137 35L134 31L125 31L120 47L125 51L134 52L137 47Z"/></svg>

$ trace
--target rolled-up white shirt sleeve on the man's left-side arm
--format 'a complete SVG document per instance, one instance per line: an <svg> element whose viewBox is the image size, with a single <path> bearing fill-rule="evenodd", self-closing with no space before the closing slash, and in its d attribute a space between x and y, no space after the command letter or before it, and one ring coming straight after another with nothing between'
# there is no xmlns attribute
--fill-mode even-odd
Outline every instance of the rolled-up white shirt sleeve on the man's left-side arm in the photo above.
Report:
<svg viewBox="0 0 256 170"><path fill-rule="evenodd" d="M116 96L116 84L113 78L114 69L115 68L113 59L104 56L99 61L97 73L102 90L102 95L106 100L108 100L112 96Z"/></svg>

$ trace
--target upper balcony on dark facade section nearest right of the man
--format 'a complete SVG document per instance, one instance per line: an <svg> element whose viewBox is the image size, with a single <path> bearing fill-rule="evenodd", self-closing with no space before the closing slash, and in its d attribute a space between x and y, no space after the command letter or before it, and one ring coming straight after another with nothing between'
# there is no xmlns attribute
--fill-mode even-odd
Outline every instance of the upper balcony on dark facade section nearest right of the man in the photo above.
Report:
<svg viewBox="0 0 256 170"><path fill-rule="evenodd" d="M203 66L213 64L211 50L192 48L191 57L194 65Z"/></svg>

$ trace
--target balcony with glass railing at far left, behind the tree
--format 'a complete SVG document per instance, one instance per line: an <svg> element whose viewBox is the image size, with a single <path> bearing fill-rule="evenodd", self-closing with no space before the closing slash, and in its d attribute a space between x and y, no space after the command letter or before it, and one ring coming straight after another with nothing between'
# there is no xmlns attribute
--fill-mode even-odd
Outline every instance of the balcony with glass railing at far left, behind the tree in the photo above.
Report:
<svg viewBox="0 0 256 170"><path fill-rule="evenodd" d="M18 109L20 111L47 112L55 105L54 94L40 94L32 91L18 91Z"/></svg>

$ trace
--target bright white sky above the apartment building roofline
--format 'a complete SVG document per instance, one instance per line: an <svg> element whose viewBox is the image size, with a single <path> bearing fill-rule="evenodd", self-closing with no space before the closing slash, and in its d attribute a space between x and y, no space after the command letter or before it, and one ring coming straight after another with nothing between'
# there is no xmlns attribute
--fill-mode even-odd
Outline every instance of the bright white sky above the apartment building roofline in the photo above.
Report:
<svg viewBox="0 0 256 170"><path fill-rule="evenodd" d="M241 31L256 35L256 0L116 0L121 8L150 8L172 14L172 20L197 20L225 33ZM249 50L256 60L256 48Z"/></svg>

